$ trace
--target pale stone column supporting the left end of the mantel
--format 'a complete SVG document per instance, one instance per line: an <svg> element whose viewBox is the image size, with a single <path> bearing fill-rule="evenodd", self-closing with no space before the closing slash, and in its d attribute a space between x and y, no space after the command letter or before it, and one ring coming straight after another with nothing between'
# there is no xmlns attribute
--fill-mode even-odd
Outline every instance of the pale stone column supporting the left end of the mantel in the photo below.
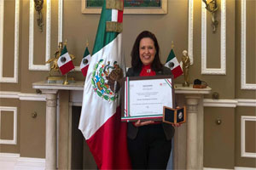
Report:
<svg viewBox="0 0 256 170"><path fill-rule="evenodd" d="M45 169L56 169L56 94L57 90L42 90L46 94Z"/></svg>

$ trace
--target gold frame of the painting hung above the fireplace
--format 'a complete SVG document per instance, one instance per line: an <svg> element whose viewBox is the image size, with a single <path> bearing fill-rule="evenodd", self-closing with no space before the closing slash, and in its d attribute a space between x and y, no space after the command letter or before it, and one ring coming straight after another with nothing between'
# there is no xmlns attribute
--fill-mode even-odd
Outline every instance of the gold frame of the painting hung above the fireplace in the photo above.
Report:
<svg viewBox="0 0 256 170"><path fill-rule="evenodd" d="M161 7L136 7L125 8L124 14L167 14L167 0L159 0ZM102 8L94 8L86 6L87 0L82 0L82 14L101 14Z"/></svg>

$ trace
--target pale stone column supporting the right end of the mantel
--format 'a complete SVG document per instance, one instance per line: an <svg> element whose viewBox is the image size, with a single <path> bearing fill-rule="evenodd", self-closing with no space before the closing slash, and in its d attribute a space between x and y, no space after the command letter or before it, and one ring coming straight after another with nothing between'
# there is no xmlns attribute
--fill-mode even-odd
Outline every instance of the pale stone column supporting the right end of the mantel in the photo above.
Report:
<svg viewBox="0 0 256 170"><path fill-rule="evenodd" d="M187 95L187 169L198 169L197 113L200 96Z"/></svg>

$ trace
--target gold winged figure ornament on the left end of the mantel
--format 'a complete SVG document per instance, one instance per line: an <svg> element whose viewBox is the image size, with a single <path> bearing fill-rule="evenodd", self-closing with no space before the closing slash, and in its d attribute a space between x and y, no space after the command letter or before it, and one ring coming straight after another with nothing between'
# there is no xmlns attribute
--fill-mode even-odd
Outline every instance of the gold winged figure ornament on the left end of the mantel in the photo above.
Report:
<svg viewBox="0 0 256 170"><path fill-rule="evenodd" d="M67 44L67 41L65 42ZM49 77L47 77L48 83L63 83L68 84L69 82L75 82L74 77L67 77L67 74L65 77L60 75L60 68L58 66L58 59L61 56L61 50L63 49L63 42L59 42L58 49L56 50L54 54L54 58L49 59L46 61L47 64L51 64L50 70L49 70ZM75 59L75 56L73 54L69 54L71 59ZM54 72L52 72L54 71ZM57 72L57 73L56 73Z"/></svg>

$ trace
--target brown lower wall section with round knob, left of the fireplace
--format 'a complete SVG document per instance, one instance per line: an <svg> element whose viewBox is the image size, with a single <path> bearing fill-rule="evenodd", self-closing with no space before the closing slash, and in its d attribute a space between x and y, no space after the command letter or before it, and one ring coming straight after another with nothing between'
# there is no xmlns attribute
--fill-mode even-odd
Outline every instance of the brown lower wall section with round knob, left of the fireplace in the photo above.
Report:
<svg viewBox="0 0 256 170"><path fill-rule="evenodd" d="M36 112L37 116L32 117ZM20 102L20 156L45 157L45 102Z"/></svg>

